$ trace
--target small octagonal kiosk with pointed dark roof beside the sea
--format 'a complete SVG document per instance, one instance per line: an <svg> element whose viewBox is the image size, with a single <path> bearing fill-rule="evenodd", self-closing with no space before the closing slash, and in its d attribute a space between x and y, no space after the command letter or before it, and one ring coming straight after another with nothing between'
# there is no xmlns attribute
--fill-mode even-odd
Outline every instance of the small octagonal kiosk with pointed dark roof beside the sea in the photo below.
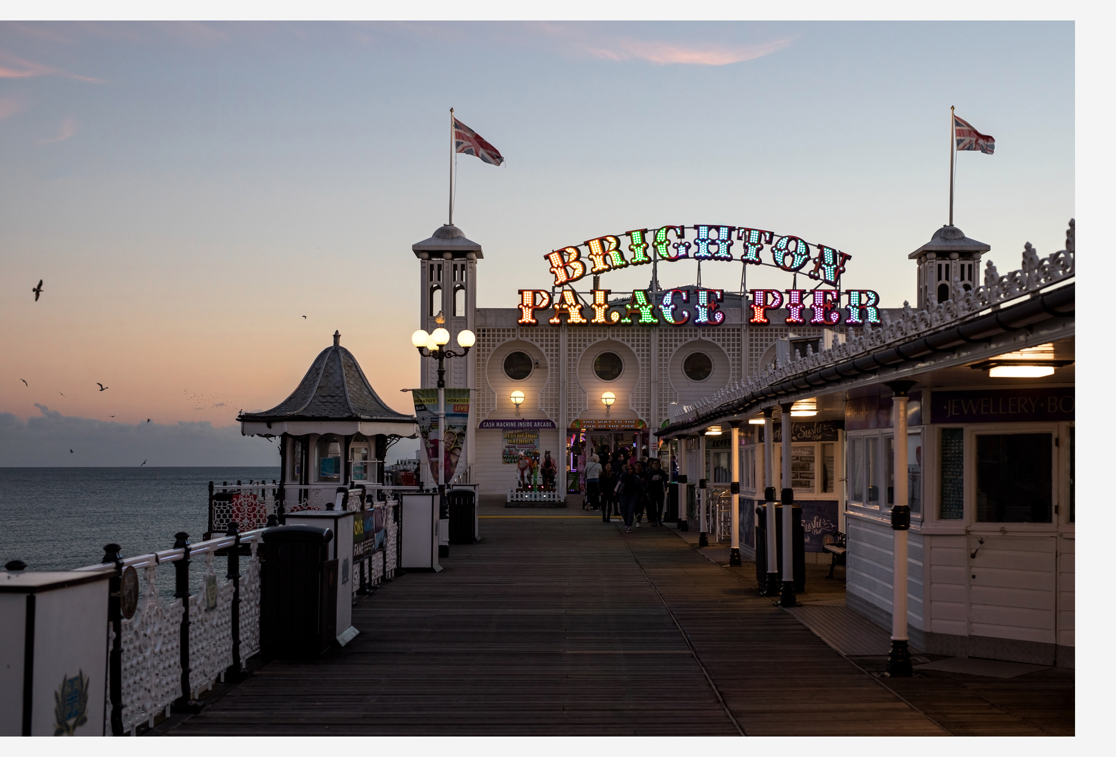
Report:
<svg viewBox="0 0 1116 757"><path fill-rule="evenodd" d="M282 512L321 511L338 487L384 483L387 449L419 436L414 416L387 407L334 333L290 397L237 418L246 436L279 437Z"/></svg>

